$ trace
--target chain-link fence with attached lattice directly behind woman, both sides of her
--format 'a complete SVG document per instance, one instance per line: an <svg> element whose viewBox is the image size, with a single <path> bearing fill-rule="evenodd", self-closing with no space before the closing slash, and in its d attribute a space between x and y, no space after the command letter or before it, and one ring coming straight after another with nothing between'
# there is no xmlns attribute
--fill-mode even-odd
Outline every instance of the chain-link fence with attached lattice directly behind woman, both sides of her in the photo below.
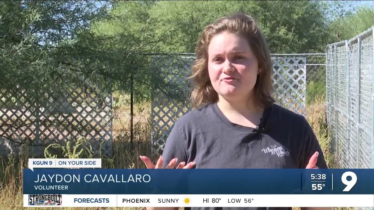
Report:
<svg viewBox="0 0 374 210"><path fill-rule="evenodd" d="M276 104L301 115L317 98L324 100L326 68L324 53L272 54L273 86ZM173 88L156 87L151 103L151 142L153 152L160 154L175 121L191 111L191 83L188 76L194 54L156 56L154 75L164 78ZM160 76L161 75L161 76Z"/></svg>

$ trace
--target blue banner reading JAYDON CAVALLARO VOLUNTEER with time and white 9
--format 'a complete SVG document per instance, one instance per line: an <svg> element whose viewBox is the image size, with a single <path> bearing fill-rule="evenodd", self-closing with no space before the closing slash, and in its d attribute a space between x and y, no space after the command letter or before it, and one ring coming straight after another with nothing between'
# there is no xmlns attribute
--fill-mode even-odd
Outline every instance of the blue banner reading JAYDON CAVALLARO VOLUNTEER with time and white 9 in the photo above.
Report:
<svg viewBox="0 0 374 210"><path fill-rule="evenodd" d="M24 194L374 194L374 169L24 169Z"/></svg>

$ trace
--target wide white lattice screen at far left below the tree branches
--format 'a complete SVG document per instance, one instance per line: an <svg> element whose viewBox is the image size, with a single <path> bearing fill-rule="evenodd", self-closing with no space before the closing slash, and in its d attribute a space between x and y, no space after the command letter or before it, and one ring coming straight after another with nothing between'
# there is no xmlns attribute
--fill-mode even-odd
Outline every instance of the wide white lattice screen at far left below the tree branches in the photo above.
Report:
<svg viewBox="0 0 374 210"><path fill-rule="evenodd" d="M46 90L47 93L48 90ZM0 153L18 152L15 142L43 145L86 138L93 152L110 155L112 148L112 97L96 95L87 89L67 90L53 105L31 106L27 91L18 96L0 89ZM9 141L7 139L12 139ZM44 146L33 146L32 152L43 154ZM94 154L95 154L94 153Z"/></svg>

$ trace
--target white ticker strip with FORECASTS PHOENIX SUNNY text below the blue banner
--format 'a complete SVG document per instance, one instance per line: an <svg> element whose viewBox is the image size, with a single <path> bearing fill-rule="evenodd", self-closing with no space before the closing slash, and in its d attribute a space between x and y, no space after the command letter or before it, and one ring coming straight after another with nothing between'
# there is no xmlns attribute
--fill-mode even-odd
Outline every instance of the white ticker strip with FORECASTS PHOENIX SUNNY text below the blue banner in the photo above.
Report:
<svg viewBox="0 0 374 210"><path fill-rule="evenodd" d="M35 202L24 207L374 207L374 195L68 195L60 205Z"/></svg>

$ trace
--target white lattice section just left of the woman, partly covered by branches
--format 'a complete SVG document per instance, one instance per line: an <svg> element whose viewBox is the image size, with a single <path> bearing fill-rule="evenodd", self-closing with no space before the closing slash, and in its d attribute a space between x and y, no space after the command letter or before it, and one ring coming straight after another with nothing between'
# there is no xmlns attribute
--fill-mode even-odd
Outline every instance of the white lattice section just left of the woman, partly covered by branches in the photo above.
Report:
<svg viewBox="0 0 374 210"><path fill-rule="evenodd" d="M175 121L192 110L189 101L190 65L193 57L182 58L154 58L154 73L163 78L174 88L162 89L162 87L152 89L151 105L151 141L152 152L159 153L165 145L169 132ZM161 71L160 71L161 70ZM157 81L154 81L157 83Z"/></svg>

